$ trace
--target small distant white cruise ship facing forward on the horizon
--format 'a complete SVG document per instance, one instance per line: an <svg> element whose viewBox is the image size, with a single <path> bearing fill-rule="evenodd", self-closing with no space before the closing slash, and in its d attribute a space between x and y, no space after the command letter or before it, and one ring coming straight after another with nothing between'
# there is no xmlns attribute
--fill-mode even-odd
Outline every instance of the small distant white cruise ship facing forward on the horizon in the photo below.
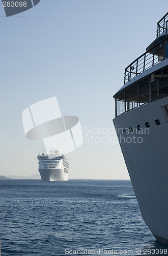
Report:
<svg viewBox="0 0 168 256"><path fill-rule="evenodd" d="M51 150L49 155L39 154L37 159L42 181L68 180L69 163L64 155L59 155L59 151Z"/></svg>

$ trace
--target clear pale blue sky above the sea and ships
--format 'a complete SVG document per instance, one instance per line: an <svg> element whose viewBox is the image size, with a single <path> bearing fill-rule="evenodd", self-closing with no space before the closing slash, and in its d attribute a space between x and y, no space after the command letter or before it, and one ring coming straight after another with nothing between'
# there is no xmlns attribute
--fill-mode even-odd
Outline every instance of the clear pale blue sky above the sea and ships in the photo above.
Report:
<svg viewBox="0 0 168 256"><path fill-rule="evenodd" d="M167 0L41 0L11 17L0 4L0 174L38 173L45 147L25 138L21 114L57 96L62 115L79 117L84 137L66 155L69 178L129 179L112 130L113 95L125 67L155 39Z"/></svg>

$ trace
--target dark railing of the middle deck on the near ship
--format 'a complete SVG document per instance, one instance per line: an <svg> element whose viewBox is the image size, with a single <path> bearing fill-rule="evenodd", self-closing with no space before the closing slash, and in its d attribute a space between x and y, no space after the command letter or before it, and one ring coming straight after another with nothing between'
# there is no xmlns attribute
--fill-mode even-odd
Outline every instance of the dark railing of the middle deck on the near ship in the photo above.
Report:
<svg viewBox="0 0 168 256"><path fill-rule="evenodd" d="M152 47L148 52L145 52L135 59L126 69L124 74L124 84L145 70L156 65L158 62L168 57L168 39L165 38L157 45Z"/></svg>

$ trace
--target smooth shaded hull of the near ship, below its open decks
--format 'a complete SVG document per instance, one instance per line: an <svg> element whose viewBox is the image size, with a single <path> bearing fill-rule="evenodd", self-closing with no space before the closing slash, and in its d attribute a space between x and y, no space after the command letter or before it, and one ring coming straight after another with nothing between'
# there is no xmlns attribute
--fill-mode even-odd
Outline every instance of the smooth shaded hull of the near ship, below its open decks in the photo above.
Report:
<svg viewBox="0 0 168 256"><path fill-rule="evenodd" d="M168 243L168 119L161 106L166 104L168 97L160 98L113 120L142 216L156 239L164 243ZM119 131L132 127L137 132L136 125L144 134Z"/></svg>

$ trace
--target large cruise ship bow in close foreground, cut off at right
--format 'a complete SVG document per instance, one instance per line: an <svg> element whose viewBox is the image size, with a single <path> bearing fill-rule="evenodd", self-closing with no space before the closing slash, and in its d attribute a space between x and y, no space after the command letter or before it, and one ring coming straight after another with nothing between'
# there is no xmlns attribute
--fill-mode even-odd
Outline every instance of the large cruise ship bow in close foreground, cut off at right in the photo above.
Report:
<svg viewBox="0 0 168 256"><path fill-rule="evenodd" d="M168 12L125 69L113 120L133 189L154 237L168 244Z"/></svg>

